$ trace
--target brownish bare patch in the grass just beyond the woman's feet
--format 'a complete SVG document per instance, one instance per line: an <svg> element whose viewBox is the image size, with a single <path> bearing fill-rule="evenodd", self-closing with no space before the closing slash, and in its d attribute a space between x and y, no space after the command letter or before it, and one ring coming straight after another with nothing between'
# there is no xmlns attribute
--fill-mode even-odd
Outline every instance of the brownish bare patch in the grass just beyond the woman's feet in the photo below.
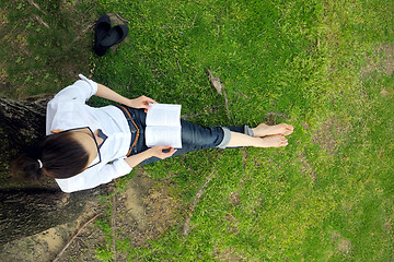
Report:
<svg viewBox="0 0 394 262"><path fill-rule="evenodd" d="M312 141L318 144L324 151L334 154L344 135L349 131L350 126L339 119L328 118L312 136Z"/></svg>

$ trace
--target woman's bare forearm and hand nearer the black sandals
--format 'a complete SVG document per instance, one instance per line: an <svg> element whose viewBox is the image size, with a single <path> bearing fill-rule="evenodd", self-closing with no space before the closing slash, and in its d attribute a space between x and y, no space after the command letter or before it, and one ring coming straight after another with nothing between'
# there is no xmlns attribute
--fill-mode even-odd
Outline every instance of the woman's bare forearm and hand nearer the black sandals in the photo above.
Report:
<svg viewBox="0 0 394 262"><path fill-rule="evenodd" d="M149 109L150 103L157 104L155 100L153 100L152 98L149 98L147 96L140 96L138 98L135 99L129 99L126 98L121 95L119 95L118 93L116 93L115 91L106 87L105 85L102 84L97 84L97 93L95 94L96 96L106 98L108 100L113 100L113 102L117 102L119 104L123 104L125 106L129 106L132 108L144 108L144 109Z"/></svg>

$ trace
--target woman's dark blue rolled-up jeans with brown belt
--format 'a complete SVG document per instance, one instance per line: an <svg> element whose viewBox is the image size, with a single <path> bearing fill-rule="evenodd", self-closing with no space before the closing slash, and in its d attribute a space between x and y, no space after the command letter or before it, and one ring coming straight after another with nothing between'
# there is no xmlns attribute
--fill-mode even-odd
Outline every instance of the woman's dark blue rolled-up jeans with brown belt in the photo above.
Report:
<svg viewBox="0 0 394 262"><path fill-rule="evenodd" d="M147 114L144 109L136 109L123 106L124 112L131 132L131 144L129 155L141 153L149 147L146 144L144 129L147 127ZM125 112L125 109L127 112ZM136 127L137 126L137 127ZM206 148L225 148L230 141L230 131L246 133L251 129L245 124L243 127L200 127L181 119L182 127L182 148L178 148L173 156L178 156L188 152ZM136 142L137 139L137 142ZM161 160L161 158L152 156L139 165Z"/></svg>

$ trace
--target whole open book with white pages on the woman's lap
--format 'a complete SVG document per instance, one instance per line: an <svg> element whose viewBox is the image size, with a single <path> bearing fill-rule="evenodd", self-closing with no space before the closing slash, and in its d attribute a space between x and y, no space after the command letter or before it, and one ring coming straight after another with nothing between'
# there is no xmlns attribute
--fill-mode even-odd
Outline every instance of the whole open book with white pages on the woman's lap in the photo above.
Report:
<svg viewBox="0 0 394 262"><path fill-rule="evenodd" d="M146 142L148 147L171 145L182 148L181 105L150 104L147 114Z"/></svg>

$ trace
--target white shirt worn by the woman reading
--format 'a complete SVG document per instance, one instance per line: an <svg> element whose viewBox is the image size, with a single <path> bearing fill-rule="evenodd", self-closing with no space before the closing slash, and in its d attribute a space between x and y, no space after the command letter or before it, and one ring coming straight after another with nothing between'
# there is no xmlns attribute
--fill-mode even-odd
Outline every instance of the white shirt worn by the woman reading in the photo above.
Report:
<svg viewBox="0 0 394 262"><path fill-rule="evenodd" d="M81 80L61 90L47 106L46 134L51 130L89 127L101 129L107 139L100 147L102 162L77 176L55 179L63 192L91 189L127 175L131 167L125 162L131 134L124 114L115 106L94 108L88 99L97 92L97 83L82 74ZM97 157L99 158L99 155ZM99 162L94 159L93 163ZM111 163L111 164L108 164Z"/></svg>

